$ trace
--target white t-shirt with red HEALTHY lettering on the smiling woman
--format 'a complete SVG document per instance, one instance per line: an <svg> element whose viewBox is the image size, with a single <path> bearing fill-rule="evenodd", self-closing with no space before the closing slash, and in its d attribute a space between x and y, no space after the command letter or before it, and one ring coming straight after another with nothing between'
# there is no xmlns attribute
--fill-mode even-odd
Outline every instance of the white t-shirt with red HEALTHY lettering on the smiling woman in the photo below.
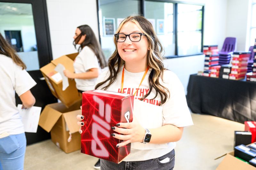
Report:
<svg viewBox="0 0 256 170"><path fill-rule="evenodd" d="M121 68L121 71L117 74L116 81L107 89L107 91L121 92L122 70L123 67ZM149 91L148 76L150 72L151 69L148 70L148 73L144 78L142 84L140 85L138 91L136 92L134 99L140 99ZM124 93L134 94L140 84L141 78L143 77L144 73L144 71L140 73L132 73L124 70ZM102 82L103 80L108 78L108 76L109 71L104 71L100 75L97 83ZM142 127L148 129L161 127L166 124L172 124L177 127L186 127L193 125L193 121L185 97L184 88L179 78L172 71L165 70L163 79L164 81L159 78L159 82L161 83L161 85L164 85L166 88L168 88L168 90L170 91L170 98L168 98L162 106L157 106L157 104L161 101L161 98L158 94L156 99L150 100L156 94L156 91L153 88L149 96L143 100L145 103L142 101L134 101L133 115L137 117ZM99 87L98 89L101 89L101 87ZM141 104L141 102L144 103L144 105L146 106L143 107L143 104ZM139 105L137 103L139 103ZM140 113L136 111L139 111ZM143 161L158 158L171 152L175 146L175 142L170 142L167 144L143 144L138 142L132 143L131 153L124 158L124 161Z"/></svg>

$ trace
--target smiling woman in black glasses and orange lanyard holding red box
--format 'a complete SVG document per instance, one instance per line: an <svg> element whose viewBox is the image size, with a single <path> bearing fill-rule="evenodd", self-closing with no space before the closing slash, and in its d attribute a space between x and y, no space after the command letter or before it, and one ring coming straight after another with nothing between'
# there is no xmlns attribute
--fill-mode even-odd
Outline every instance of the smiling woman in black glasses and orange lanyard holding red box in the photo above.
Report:
<svg viewBox="0 0 256 170"><path fill-rule="evenodd" d="M172 71L164 69L163 47L143 16L125 18L114 42L109 70L100 75L95 89L134 95L133 121L117 123L111 134L123 140L116 147L131 143L131 153L120 164L100 159L100 168L172 170L175 142L184 127L193 125L184 88Z"/></svg>

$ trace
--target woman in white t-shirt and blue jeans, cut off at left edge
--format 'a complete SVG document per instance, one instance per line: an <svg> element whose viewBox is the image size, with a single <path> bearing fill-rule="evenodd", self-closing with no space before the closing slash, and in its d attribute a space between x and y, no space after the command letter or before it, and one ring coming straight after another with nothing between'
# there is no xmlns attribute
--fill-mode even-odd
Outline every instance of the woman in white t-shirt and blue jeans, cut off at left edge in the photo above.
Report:
<svg viewBox="0 0 256 170"><path fill-rule="evenodd" d="M27 141L15 92L22 101L22 108L32 107L36 100L30 89L36 82L1 33L0 61L0 169L20 170L24 166Z"/></svg>

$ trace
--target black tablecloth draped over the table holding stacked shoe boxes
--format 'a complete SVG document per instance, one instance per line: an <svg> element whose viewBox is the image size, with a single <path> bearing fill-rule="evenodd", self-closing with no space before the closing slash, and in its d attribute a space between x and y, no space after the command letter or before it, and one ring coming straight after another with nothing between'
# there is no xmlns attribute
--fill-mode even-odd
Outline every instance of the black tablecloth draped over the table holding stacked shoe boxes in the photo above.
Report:
<svg viewBox="0 0 256 170"><path fill-rule="evenodd" d="M190 75L187 101L193 113L244 123L256 121L256 82Z"/></svg>

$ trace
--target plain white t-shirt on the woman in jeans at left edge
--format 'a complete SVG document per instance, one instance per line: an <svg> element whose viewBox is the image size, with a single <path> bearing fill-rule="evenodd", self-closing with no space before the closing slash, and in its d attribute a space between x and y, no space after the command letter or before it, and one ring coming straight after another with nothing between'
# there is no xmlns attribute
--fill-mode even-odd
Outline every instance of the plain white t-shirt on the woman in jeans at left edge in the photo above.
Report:
<svg viewBox="0 0 256 170"><path fill-rule="evenodd" d="M35 86L36 82L10 57L0 54L0 61L0 134L21 134L24 128L16 107L15 92L20 96Z"/></svg>

